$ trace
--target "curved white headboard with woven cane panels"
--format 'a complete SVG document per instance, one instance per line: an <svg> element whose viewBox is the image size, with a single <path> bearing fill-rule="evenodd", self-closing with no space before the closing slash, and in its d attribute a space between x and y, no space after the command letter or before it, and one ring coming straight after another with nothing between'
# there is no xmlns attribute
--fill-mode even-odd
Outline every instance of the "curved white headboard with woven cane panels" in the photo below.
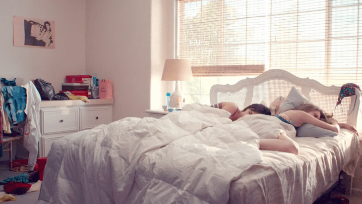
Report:
<svg viewBox="0 0 362 204"><path fill-rule="evenodd" d="M361 102L361 93L357 89L356 96L345 97L336 108L341 87L324 86L315 80L302 79L281 69L268 70L235 85L214 85L210 90L210 102L235 102L240 109L262 101L269 105L280 96L287 97L292 87L296 87L310 102L326 113L333 113L339 122L357 126Z"/></svg>

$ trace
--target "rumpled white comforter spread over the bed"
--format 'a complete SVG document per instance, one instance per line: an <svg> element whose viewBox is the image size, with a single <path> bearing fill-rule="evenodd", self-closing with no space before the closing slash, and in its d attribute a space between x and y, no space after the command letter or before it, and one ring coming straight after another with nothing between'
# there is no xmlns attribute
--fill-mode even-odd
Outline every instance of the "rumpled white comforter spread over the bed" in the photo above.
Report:
<svg viewBox="0 0 362 204"><path fill-rule="evenodd" d="M190 104L57 140L36 204L227 203L231 182L262 158L259 137L229 116Z"/></svg>

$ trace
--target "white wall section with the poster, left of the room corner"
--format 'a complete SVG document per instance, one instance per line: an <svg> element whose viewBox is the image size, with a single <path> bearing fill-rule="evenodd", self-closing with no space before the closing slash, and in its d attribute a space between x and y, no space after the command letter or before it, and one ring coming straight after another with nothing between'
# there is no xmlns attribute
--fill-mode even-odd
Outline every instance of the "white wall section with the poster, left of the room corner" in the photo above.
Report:
<svg viewBox="0 0 362 204"><path fill-rule="evenodd" d="M61 90L65 75L85 74L86 0L0 0L0 78L42 78ZM55 21L56 48L13 46L13 16Z"/></svg>

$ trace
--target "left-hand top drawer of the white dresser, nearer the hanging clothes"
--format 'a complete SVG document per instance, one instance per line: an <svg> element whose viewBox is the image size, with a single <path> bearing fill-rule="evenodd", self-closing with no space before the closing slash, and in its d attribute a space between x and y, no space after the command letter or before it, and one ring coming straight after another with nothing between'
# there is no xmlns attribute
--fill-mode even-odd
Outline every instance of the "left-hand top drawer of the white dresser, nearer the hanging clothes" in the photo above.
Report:
<svg viewBox="0 0 362 204"><path fill-rule="evenodd" d="M42 134L79 131L79 108L41 110Z"/></svg>

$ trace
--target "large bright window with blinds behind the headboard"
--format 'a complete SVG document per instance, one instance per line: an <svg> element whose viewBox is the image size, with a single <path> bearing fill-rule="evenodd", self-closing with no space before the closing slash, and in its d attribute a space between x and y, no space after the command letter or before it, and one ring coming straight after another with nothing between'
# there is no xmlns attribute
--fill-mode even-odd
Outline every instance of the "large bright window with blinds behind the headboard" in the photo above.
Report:
<svg viewBox="0 0 362 204"><path fill-rule="evenodd" d="M208 104L213 84L269 69L362 85L362 0L178 0L178 11L177 55L201 76L186 102Z"/></svg>

